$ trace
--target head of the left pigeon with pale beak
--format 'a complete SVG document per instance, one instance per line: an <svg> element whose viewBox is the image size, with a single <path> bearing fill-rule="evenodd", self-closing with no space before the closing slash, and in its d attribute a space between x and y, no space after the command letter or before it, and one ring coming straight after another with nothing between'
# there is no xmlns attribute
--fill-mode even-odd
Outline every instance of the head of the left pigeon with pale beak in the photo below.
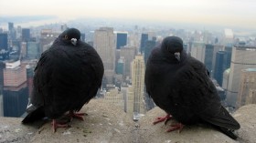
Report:
<svg viewBox="0 0 256 143"><path fill-rule="evenodd" d="M76 28L69 28L63 32L63 38L70 41L74 46L77 45L77 41L80 40L80 31Z"/></svg>

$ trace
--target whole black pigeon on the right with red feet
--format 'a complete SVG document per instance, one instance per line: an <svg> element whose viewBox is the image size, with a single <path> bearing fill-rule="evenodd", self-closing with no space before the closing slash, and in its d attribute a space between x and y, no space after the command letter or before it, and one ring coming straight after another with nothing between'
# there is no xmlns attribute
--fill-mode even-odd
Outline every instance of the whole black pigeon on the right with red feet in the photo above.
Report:
<svg viewBox="0 0 256 143"><path fill-rule="evenodd" d="M179 131L185 125L208 124L238 138L234 130L240 128L237 120L220 103L217 88L208 75L206 66L187 55L183 41L167 36L156 46L146 63L144 83L146 92L155 105L165 110L165 117L157 117L154 124L176 119L166 131Z"/></svg>

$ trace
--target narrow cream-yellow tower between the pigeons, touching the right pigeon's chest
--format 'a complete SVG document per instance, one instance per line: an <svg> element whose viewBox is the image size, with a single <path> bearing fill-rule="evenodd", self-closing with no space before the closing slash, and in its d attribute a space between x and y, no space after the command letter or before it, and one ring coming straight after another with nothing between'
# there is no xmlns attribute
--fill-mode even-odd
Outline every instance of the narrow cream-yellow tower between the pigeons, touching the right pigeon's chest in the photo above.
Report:
<svg viewBox="0 0 256 143"><path fill-rule="evenodd" d="M135 56L132 64L133 118L139 119L145 113L144 107L144 56Z"/></svg>

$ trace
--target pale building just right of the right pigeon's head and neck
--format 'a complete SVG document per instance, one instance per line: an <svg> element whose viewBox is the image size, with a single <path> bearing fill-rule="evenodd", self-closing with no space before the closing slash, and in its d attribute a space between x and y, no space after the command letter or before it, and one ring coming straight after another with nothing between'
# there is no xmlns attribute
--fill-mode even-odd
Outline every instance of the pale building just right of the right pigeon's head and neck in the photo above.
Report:
<svg viewBox="0 0 256 143"><path fill-rule="evenodd" d="M191 56L197 58L202 63L205 62L206 45L200 42L193 42L191 46Z"/></svg>

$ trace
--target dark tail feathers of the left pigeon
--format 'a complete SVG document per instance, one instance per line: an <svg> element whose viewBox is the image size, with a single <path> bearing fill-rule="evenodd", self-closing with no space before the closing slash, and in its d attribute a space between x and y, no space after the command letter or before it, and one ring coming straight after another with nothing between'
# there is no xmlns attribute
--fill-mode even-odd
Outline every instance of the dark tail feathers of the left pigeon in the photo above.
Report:
<svg viewBox="0 0 256 143"><path fill-rule="evenodd" d="M27 116L22 120L23 124L27 123L33 123L43 117L46 117L44 108L43 107L37 107L35 110L27 113Z"/></svg>

